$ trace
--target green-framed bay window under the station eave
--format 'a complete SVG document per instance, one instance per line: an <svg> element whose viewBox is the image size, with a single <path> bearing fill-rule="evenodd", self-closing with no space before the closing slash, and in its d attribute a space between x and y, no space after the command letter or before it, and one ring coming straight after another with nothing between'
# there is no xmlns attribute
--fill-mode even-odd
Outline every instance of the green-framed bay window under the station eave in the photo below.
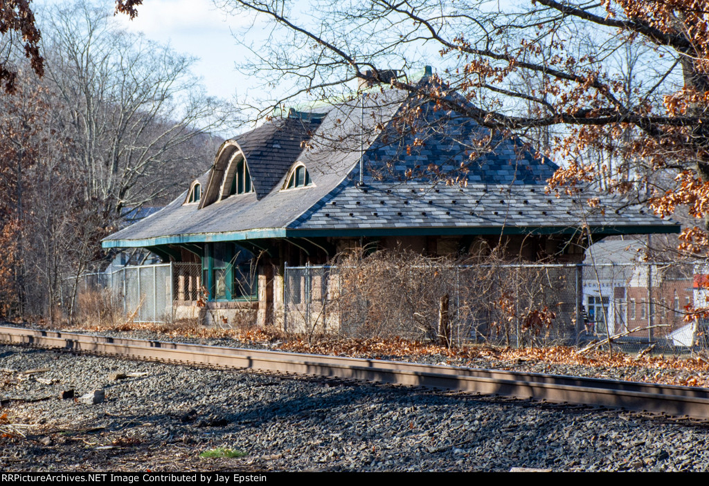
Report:
<svg viewBox="0 0 709 486"><path fill-rule="evenodd" d="M254 255L234 243L207 243L202 258L202 278L211 301L258 298Z"/></svg>

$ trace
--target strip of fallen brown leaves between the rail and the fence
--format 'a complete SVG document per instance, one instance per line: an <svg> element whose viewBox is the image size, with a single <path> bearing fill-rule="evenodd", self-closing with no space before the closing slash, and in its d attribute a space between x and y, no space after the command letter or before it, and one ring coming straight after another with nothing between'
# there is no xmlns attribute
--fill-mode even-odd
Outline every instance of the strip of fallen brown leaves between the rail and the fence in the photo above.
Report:
<svg viewBox="0 0 709 486"><path fill-rule="evenodd" d="M437 362L456 366L514 368L521 365L544 367L547 373L581 374L580 368L591 369L584 376L609 376L611 369L623 369L631 381L667 383L709 388L709 359L700 356L677 357L652 354L625 354L603 350L579 353L574 347L554 346L513 349L491 345L469 345L448 348L431 342L402 338L354 339L321 336L318 340L286 335L275 328L207 328L192 323L123 323L113 326L84 326L77 329L96 332L150 331L169 339L229 339L242 344L266 345L270 349L308 354L327 354L370 359L403 359L416 361L434 357ZM571 369L569 369L571 368Z"/></svg>

